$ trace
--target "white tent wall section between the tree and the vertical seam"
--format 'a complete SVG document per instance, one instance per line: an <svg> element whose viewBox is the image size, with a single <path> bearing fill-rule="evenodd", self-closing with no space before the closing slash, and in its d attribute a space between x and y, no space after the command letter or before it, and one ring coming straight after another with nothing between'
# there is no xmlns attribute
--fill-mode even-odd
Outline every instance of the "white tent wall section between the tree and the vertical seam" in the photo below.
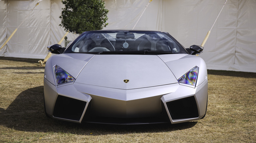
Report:
<svg viewBox="0 0 256 143"><path fill-rule="evenodd" d="M104 0L109 10L108 25L104 29L132 29L149 0ZM158 30L162 25L162 0L153 0L134 29Z"/></svg>

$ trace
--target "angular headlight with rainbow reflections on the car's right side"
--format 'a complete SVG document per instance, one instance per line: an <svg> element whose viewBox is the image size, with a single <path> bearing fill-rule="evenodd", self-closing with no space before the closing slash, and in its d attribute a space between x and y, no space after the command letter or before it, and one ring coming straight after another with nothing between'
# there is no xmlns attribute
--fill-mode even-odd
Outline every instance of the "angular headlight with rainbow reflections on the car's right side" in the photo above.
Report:
<svg viewBox="0 0 256 143"><path fill-rule="evenodd" d="M198 70L199 68L195 66L193 69L186 72L178 79L179 84L189 87L196 87Z"/></svg>

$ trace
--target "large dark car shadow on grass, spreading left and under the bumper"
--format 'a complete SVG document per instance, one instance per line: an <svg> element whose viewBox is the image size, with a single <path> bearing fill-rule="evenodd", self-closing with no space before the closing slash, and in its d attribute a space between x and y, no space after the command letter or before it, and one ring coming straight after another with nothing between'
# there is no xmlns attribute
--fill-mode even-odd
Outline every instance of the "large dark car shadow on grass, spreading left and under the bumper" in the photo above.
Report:
<svg viewBox="0 0 256 143"><path fill-rule="evenodd" d="M43 86L21 92L4 110L0 109L0 125L19 131L53 132L79 135L107 135L129 133L158 133L187 129L196 121L180 124L106 125L72 123L47 118L43 105ZM93 133L93 134L90 134Z"/></svg>

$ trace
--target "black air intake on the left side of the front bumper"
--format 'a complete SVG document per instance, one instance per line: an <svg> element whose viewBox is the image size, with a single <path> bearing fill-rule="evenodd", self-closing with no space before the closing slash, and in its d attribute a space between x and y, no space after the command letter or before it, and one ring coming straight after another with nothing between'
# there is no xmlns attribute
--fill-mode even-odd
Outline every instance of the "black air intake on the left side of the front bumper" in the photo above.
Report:
<svg viewBox="0 0 256 143"><path fill-rule="evenodd" d="M53 116L79 121L85 105L86 102L84 101L58 95L53 110Z"/></svg>

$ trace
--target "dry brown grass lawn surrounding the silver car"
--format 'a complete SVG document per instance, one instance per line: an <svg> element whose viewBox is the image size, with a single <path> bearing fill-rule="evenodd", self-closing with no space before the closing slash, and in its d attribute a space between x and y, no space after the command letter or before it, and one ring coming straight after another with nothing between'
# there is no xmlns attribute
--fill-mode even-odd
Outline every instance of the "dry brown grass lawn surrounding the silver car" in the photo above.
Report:
<svg viewBox="0 0 256 143"><path fill-rule="evenodd" d="M37 61L0 57L0 142L256 142L256 73L209 70L208 110L198 121L75 124L45 116Z"/></svg>

